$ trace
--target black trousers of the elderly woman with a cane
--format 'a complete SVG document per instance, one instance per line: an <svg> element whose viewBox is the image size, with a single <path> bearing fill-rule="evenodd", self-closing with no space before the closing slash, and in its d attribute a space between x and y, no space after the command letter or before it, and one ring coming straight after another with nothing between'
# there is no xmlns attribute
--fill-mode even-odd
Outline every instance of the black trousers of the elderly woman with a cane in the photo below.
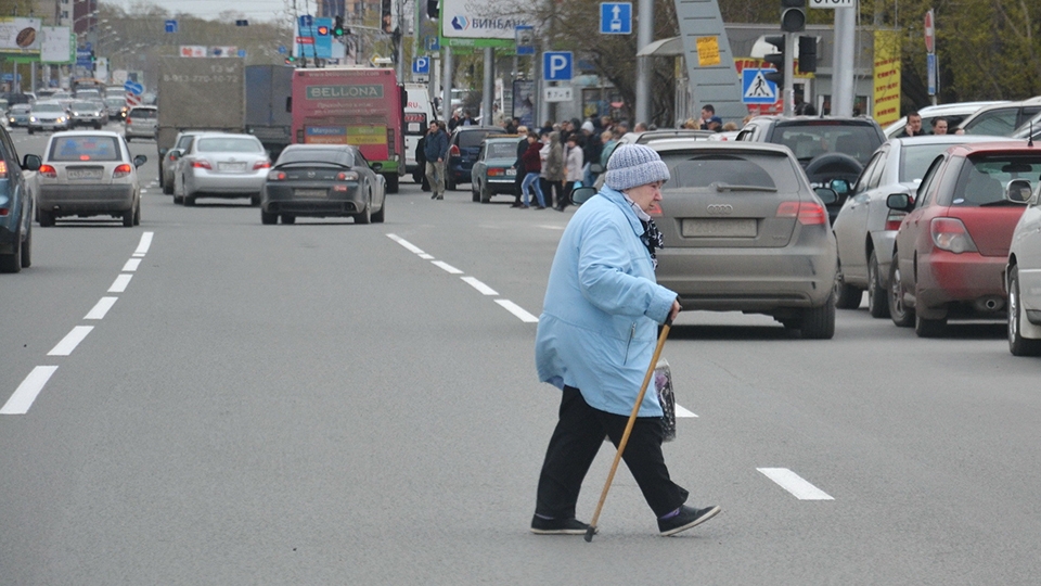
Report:
<svg viewBox="0 0 1041 586"><path fill-rule="evenodd" d="M565 386L560 421L550 438L539 476L535 512L552 518L575 517L582 480L604 443L604 436L611 438L617 448L628 421L627 416L590 407L578 388ZM621 455L655 517L676 510L690 496L669 479L669 469L661 454L661 434L660 419L638 417Z"/></svg>

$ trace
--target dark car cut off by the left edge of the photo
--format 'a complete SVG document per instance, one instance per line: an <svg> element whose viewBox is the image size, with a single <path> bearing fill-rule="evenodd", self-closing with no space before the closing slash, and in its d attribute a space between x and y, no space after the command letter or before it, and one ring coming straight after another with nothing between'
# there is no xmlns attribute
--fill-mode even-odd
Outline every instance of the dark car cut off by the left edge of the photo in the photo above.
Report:
<svg viewBox="0 0 1041 586"><path fill-rule="evenodd" d="M18 153L11 135L0 128L0 272L18 272L33 264L33 192L22 169L38 170L40 157Z"/></svg>

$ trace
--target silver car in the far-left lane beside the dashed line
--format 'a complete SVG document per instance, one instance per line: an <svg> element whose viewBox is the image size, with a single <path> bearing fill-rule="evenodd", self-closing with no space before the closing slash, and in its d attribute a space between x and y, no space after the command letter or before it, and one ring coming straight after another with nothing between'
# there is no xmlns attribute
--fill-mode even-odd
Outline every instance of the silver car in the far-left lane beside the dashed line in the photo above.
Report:
<svg viewBox="0 0 1041 586"><path fill-rule="evenodd" d="M55 132L37 173L37 219L54 226L62 217L112 216L126 227L141 224L138 167L121 136L104 130Z"/></svg>

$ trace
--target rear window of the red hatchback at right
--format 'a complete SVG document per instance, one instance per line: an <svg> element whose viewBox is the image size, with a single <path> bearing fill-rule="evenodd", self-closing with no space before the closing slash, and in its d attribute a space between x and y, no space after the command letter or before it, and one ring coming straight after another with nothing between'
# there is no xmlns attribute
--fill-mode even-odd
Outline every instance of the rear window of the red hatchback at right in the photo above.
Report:
<svg viewBox="0 0 1041 586"><path fill-rule="evenodd" d="M1041 155L1010 153L972 157L962 166L951 200L947 202L941 199L937 203L959 207L1020 205L1005 200L1008 182L1025 179L1034 189L1039 177Z"/></svg>

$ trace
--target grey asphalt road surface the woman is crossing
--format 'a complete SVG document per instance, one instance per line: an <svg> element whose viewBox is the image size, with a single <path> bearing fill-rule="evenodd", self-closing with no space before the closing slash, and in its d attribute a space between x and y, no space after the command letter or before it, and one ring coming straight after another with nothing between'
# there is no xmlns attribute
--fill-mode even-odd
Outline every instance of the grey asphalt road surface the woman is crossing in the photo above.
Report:
<svg viewBox="0 0 1041 586"><path fill-rule="evenodd" d="M666 458L722 514L659 537L622 467L591 544L536 536L560 395L535 321L571 211L403 183L385 224L261 226L246 200L175 206L154 143L131 149L150 158L140 227L37 226L33 266L0 276L0 584L1041 575L1041 362L1002 324L918 340L861 308L802 341L683 314Z"/></svg>

